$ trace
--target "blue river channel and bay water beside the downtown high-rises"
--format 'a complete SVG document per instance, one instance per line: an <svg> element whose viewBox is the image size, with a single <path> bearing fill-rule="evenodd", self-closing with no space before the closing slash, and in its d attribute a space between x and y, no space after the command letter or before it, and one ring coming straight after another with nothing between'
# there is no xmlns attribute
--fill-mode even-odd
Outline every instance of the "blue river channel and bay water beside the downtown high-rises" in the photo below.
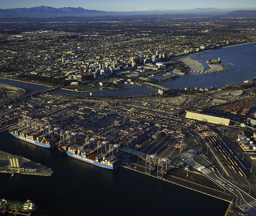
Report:
<svg viewBox="0 0 256 216"><path fill-rule="evenodd" d="M208 59L220 59L228 70L226 72L217 74L202 74L202 75L186 75L180 76L177 80L172 80L164 83L160 83L161 86L170 89L182 89L186 87L224 87L226 84L242 84L245 80L256 76L256 43L244 44L239 46L232 46L226 48L220 48L217 50L211 50L208 52L202 52L192 56L194 60L199 60L205 67L205 70L209 68L206 64ZM235 66L233 66L233 65ZM176 74L171 74L176 75ZM157 77L156 77L157 78ZM11 84L21 88L29 88L30 90L41 90L46 88L45 86L38 86L35 84L26 84L22 82L16 82L11 80L0 80L1 83ZM125 85L125 84L124 84ZM138 86L136 84L126 84L127 86L136 86L136 88L126 88L120 90L106 90L102 92L92 92L94 96L135 96L141 94L156 94L157 89L150 86ZM62 94L66 96L74 95L80 97L87 97L89 92L72 92L57 89L53 91L55 94Z"/></svg>

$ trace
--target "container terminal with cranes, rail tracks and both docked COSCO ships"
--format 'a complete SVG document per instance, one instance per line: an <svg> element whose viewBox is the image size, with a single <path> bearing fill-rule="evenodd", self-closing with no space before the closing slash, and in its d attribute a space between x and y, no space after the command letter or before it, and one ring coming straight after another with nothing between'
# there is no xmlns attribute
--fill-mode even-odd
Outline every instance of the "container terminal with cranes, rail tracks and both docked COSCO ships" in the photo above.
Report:
<svg viewBox="0 0 256 216"><path fill-rule="evenodd" d="M186 111L205 106L198 97L129 99L31 97L2 108L0 130L88 166L119 165L225 200L227 213L256 214L256 145L249 126Z"/></svg>

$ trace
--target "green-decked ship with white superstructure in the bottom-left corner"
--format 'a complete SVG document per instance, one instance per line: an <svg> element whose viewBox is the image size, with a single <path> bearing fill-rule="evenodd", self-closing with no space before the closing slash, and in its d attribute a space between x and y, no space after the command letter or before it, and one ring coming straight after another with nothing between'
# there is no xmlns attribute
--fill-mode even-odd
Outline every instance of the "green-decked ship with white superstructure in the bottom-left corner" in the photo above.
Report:
<svg viewBox="0 0 256 216"><path fill-rule="evenodd" d="M38 206L30 200L27 200L26 202L5 199L0 200L0 208L4 210L10 209L21 212L35 212L37 210L37 207Z"/></svg>

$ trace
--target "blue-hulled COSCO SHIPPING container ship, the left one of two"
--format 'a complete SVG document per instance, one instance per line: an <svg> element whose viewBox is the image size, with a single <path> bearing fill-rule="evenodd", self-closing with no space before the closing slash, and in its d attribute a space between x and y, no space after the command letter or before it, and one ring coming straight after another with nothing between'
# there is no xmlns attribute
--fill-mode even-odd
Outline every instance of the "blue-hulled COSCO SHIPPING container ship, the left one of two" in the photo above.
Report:
<svg viewBox="0 0 256 216"><path fill-rule="evenodd" d="M30 127L13 126L9 128L9 133L16 138L45 148L53 148L58 140L54 138L54 133L45 133L43 130L35 131Z"/></svg>

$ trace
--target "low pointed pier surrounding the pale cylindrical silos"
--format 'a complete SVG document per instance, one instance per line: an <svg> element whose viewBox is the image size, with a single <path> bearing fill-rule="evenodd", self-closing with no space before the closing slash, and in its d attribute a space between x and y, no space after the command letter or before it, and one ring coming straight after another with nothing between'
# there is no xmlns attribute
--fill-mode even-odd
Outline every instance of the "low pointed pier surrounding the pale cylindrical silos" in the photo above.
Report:
<svg viewBox="0 0 256 216"><path fill-rule="evenodd" d="M10 168L9 157L13 155L0 150L0 173L51 176L51 168L22 157L22 168Z"/></svg>

